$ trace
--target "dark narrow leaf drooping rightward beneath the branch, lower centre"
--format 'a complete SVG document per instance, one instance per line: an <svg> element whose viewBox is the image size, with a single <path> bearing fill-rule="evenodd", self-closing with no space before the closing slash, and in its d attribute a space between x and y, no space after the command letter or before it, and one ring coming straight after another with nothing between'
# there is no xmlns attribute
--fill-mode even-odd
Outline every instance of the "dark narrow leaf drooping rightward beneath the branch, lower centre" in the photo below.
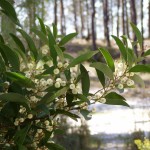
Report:
<svg viewBox="0 0 150 150"><path fill-rule="evenodd" d="M63 114L63 115L66 115L68 117L70 117L71 119L75 120L75 121L78 121L77 118L80 118L79 116L77 116L76 114L73 114L69 111L65 111L65 110L62 110L62 109L57 109L55 111L55 114Z"/></svg>

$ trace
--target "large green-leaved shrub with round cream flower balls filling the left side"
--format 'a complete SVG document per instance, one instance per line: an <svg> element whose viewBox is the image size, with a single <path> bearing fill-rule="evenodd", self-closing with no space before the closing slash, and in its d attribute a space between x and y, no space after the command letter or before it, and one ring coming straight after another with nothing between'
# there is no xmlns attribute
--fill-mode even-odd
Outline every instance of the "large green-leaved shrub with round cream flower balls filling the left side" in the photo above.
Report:
<svg viewBox="0 0 150 150"><path fill-rule="evenodd" d="M5 0L0 1L0 6L13 10ZM12 13L8 15L12 18L10 15ZM96 102L129 107L119 92L134 88L135 83L143 85L136 73L150 72L150 65L138 64L150 51L137 57L133 48L128 47L125 36L123 41L113 36L121 53L117 61L103 48L74 58L65 52L65 44L77 34L60 38L55 25L51 30L40 18L38 20L40 29L32 31L43 42L41 49L21 28L17 31L28 47L14 34L10 36L16 43L15 48L0 38L0 143L3 149L63 150L53 141L60 130L61 115L76 121L81 115L90 119L88 106ZM19 25L17 20L13 21ZM139 30L131 26L141 45ZM92 59L98 53L103 55L105 63ZM102 85L95 93L89 92L90 77L83 64L87 60L92 61L90 67L95 69Z"/></svg>

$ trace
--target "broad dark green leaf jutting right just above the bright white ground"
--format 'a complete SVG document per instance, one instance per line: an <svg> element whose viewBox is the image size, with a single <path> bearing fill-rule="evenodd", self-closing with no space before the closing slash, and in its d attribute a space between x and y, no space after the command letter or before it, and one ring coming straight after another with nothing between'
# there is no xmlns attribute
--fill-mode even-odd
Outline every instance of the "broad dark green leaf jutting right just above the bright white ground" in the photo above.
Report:
<svg viewBox="0 0 150 150"><path fill-rule="evenodd" d="M109 105L122 105L122 106L127 106L130 107L126 102L125 98L122 97L121 95L117 94L116 92L111 92L105 96L106 98L106 103Z"/></svg>

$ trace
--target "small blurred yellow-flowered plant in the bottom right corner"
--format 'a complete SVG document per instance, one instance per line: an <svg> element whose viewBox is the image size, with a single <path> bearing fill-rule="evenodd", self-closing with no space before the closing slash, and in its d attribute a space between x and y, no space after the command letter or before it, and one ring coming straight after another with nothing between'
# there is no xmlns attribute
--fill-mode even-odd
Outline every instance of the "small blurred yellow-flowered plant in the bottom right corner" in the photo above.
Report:
<svg viewBox="0 0 150 150"><path fill-rule="evenodd" d="M150 140L144 139L142 142L139 139L134 140L134 143L137 145L138 150L150 150Z"/></svg>

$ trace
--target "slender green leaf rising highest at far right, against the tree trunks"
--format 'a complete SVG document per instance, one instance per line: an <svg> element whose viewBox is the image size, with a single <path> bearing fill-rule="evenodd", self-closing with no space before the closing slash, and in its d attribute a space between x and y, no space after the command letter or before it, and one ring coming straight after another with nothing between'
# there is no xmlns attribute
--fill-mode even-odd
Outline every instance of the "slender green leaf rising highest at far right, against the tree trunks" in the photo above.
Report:
<svg viewBox="0 0 150 150"><path fill-rule="evenodd" d="M132 22L130 22L130 24L131 24L131 27L132 27L132 29L133 29L133 31L134 31L137 39L138 39L140 47L142 48L142 43L143 43L142 34L141 34L140 30L136 27L135 24L133 24Z"/></svg>

